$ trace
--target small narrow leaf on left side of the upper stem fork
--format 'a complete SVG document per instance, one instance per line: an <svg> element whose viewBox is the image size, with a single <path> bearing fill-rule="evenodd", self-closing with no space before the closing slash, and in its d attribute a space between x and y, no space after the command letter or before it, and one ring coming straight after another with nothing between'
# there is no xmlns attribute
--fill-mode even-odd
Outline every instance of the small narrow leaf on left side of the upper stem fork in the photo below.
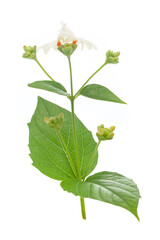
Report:
<svg viewBox="0 0 160 240"><path fill-rule="evenodd" d="M69 96L70 94L67 93L66 89L63 87L62 84L53 81L36 81L33 83L28 84L29 87L43 89L46 91L54 92L59 95Z"/></svg>

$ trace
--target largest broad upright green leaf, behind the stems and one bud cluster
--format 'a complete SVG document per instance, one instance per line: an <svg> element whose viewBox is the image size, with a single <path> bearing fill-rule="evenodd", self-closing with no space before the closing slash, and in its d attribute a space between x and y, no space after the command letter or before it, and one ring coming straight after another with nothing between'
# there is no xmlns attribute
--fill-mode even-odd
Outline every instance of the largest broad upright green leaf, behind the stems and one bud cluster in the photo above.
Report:
<svg viewBox="0 0 160 240"><path fill-rule="evenodd" d="M43 174L57 180L74 178L74 173L69 164L66 152L56 130L47 126L44 117L51 117L64 114L64 124L61 128L61 135L68 147L72 161L76 165L76 157L73 141L72 116L69 111L60 106L38 97L38 104L29 125L29 148L33 166ZM81 175L84 176L96 142L92 133L75 116L78 153L81 166ZM88 174L93 171L97 164L98 154L91 165Z"/></svg>

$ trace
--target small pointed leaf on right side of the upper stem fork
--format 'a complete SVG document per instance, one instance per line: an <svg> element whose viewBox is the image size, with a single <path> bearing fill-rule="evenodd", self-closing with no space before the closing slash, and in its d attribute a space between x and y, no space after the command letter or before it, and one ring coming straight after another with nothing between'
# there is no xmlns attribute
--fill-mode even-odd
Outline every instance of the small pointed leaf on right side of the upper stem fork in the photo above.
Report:
<svg viewBox="0 0 160 240"><path fill-rule="evenodd" d="M120 98L118 98L114 93L112 93L108 88L103 87L99 84L89 84L85 86L80 92L81 95L97 100L123 103Z"/></svg>

